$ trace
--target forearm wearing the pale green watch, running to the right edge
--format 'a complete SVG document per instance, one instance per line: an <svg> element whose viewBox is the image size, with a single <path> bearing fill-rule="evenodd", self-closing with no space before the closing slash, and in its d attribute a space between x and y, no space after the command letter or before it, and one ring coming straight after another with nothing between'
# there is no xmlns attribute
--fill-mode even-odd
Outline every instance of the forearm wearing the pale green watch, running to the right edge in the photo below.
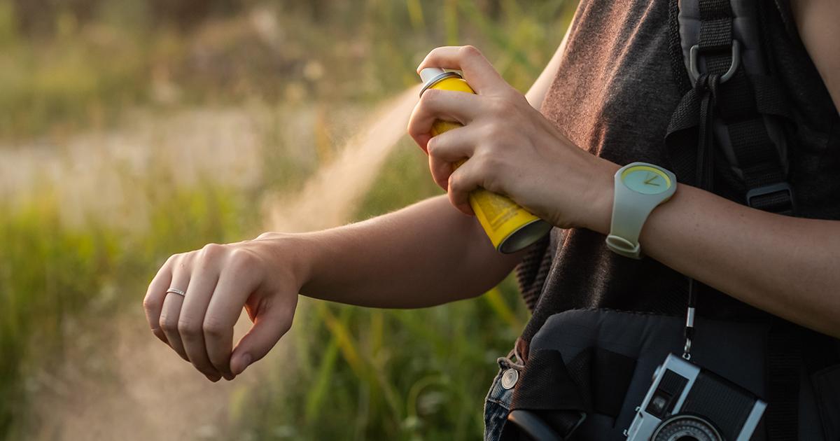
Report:
<svg viewBox="0 0 840 441"><path fill-rule="evenodd" d="M595 229L606 234L609 222L605 209ZM840 336L840 222L765 213L680 185L651 213L639 243L742 302Z"/></svg>

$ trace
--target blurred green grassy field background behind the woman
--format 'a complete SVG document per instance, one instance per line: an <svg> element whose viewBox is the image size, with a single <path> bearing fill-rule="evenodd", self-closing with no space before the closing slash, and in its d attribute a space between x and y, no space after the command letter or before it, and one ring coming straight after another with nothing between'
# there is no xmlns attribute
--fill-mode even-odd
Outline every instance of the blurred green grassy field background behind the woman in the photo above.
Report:
<svg viewBox="0 0 840 441"><path fill-rule="evenodd" d="M171 254L440 194L402 136L415 66L471 44L524 92L574 8L0 0L0 438L479 439L528 319L511 278L427 310L303 300L218 384L140 303Z"/></svg>

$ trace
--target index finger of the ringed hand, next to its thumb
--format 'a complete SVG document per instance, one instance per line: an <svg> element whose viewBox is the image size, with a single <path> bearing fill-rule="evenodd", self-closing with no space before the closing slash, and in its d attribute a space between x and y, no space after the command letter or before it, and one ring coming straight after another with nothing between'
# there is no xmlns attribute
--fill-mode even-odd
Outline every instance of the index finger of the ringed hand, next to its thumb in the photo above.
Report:
<svg viewBox="0 0 840 441"><path fill-rule="evenodd" d="M253 273L255 265L252 265L250 259L253 257L247 253L231 255L228 265L219 276L204 317L207 356L219 372L231 376L238 373L231 370L230 363L234 346L234 325L245 301L260 285L259 279Z"/></svg>

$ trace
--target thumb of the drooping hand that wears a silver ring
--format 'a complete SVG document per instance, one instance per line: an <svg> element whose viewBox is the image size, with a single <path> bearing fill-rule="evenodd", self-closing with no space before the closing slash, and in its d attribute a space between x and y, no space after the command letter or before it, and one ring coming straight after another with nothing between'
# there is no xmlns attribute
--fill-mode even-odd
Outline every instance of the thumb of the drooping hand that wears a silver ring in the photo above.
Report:
<svg viewBox="0 0 840 441"><path fill-rule="evenodd" d="M267 297L264 300L284 299L285 302L265 302L254 314L254 327L239 340L230 358L230 367L235 375L274 347L278 340L291 328L291 319L297 307L297 296Z"/></svg>

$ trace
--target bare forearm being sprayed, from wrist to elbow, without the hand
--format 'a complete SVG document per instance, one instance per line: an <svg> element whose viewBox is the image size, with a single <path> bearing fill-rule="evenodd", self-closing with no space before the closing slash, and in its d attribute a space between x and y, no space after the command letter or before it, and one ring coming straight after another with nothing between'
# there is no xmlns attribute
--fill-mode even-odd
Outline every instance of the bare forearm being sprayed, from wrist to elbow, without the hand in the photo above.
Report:
<svg viewBox="0 0 840 441"><path fill-rule="evenodd" d="M297 235L301 293L368 307L475 297L521 259L493 249L475 218L433 197L365 222Z"/></svg>

